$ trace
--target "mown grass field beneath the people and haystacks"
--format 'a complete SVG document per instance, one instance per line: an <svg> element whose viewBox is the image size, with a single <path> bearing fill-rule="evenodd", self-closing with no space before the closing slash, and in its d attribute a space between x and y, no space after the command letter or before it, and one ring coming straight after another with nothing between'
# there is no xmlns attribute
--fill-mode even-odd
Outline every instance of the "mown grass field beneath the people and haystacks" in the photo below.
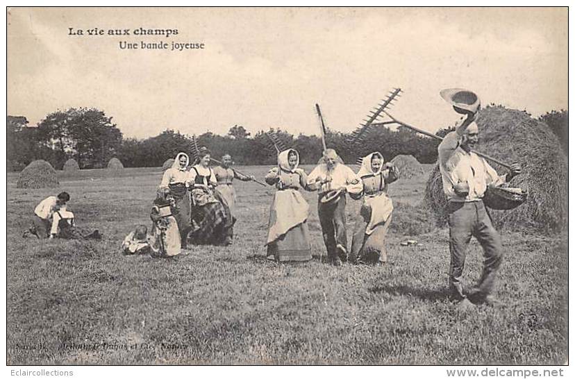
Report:
<svg viewBox="0 0 575 379"><path fill-rule="evenodd" d="M244 169L259 178L266 171ZM60 188L33 190L17 189L17 174L8 175L8 364L567 361L567 235L503 233L497 296L506 305L458 310L446 299L447 229L409 236L414 228L395 228L385 266L331 267L319 260L317 200L308 193L315 259L277 264L263 246L271 196L240 182L233 246L124 257L117 247L128 231L151 225L160 169L60 175ZM398 209L419 203L425 180L391 185ZM22 239L34 206L60 190L71 194L77 224L98 228L103 241ZM359 204L348 202L349 237ZM408 238L419 244L400 246ZM469 286L481 260L472 242Z"/></svg>

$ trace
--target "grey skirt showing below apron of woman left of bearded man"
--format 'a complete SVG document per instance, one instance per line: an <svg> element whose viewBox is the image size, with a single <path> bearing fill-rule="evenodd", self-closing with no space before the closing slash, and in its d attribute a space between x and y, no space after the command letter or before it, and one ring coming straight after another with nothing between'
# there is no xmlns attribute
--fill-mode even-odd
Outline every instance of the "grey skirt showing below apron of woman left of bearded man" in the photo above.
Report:
<svg viewBox="0 0 575 379"><path fill-rule="evenodd" d="M310 233L307 222L294 226L288 233L267 244L267 255L274 255L278 262L310 260Z"/></svg>

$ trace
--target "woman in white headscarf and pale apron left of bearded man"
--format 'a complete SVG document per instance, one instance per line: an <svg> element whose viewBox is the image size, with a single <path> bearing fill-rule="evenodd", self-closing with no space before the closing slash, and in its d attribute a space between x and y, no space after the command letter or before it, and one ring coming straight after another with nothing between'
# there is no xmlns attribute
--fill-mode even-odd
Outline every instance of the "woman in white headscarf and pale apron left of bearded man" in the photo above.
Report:
<svg viewBox="0 0 575 379"><path fill-rule="evenodd" d="M278 167L269 170L265 181L278 189L269 210L268 259L278 262L311 259L308 219L309 205L299 193L308 176L298 168L299 154L294 149L278 155Z"/></svg>

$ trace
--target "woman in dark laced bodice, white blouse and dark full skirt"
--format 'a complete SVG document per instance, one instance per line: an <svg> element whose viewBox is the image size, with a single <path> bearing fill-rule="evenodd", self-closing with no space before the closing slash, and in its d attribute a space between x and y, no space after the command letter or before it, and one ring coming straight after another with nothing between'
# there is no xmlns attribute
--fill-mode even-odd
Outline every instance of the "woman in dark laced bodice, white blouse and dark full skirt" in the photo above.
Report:
<svg viewBox="0 0 575 379"><path fill-rule="evenodd" d="M199 152L199 164L190 169L192 185L192 244L229 245L233 235L230 208L214 191L217 181L210 169L210 151Z"/></svg>

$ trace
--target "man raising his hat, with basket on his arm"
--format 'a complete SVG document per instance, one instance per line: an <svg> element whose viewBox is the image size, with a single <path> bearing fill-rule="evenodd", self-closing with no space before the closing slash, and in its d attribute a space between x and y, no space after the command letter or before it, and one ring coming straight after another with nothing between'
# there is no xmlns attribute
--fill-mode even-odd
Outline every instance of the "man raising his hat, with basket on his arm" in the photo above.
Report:
<svg viewBox="0 0 575 379"><path fill-rule="evenodd" d="M442 96L449 101L453 93L442 92ZM467 119L455 131L446 135L437 147L443 189L449 201L449 290L451 300L460 305L469 305L469 301L497 305L499 302L492 296L492 290L501 265L503 248L501 236L485 210L483 196L488 187L501 185L521 174L521 167L511 165L509 174L499 176L484 158L472 151L478 143L479 135L478 126L474 122L479 100L475 99L470 104L452 102L457 112L467 114ZM472 236L483 247L485 260L476 288L466 296L462 287L462 272L467 245Z"/></svg>

